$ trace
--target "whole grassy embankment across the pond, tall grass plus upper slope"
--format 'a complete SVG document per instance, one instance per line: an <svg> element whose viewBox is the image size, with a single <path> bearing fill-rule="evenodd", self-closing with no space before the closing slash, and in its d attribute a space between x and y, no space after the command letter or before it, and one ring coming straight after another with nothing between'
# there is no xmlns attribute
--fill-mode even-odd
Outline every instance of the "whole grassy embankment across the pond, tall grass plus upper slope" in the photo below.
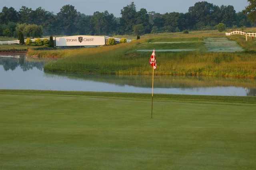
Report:
<svg viewBox="0 0 256 170"><path fill-rule="evenodd" d="M100 74L144 74L151 75L148 65L151 52L140 53L137 49L186 49L197 48L196 52L158 52L157 75L192 75L224 77L256 77L254 52L219 53L205 51L202 38L219 37L223 33L194 32L185 34L158 34L145 39L116 46L48 51L28 51L39 57L60 57L50 62L45 71ZM155 42L185 42L154 44ZM202 50L200 50L202 49Z"/></svg>

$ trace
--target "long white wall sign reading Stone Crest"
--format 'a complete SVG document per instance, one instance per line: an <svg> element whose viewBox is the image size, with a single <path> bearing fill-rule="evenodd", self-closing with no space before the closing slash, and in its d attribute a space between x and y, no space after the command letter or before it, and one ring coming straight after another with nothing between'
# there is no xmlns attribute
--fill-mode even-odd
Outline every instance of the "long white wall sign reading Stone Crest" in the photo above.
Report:
<svg viewBox="0 0 256 170"><path fill-rule="evenodd" d="M68 36L56 37L56 46L105 45L104 36Z"/></svg>

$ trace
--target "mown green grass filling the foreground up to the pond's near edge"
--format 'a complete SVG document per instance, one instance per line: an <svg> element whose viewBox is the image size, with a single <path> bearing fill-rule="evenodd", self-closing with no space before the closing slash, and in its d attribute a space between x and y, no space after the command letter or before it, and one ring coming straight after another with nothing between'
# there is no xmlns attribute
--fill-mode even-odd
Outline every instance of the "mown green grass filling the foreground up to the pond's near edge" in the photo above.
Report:
<svg viewBox="0 0 256 170"><path fill-rule="evenodd" d="M256 98L0 91L0 169L254 170Z"/></svg>

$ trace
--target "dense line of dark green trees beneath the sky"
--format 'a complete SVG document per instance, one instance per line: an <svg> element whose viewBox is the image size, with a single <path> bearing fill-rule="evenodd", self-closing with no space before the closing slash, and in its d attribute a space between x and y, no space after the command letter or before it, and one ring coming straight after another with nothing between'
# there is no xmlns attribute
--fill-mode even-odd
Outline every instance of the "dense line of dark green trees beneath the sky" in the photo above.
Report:
<svg viewBox="0 0 256 170"><path fill-rule="evenodd" d="M147 34L213 30L219 23L228 28L255 26L255 20L250 20L248 16L251 14L236 12L233 6L217 6L205 1L197 2L185 14L160 14L144 8L137 10L132 2L121 10L121 17L115 17L108 11L85 15L72 5L63 6L57 14L41 7L32 10L22 6L19 11L3 7L0 12L0 36L17 37L18 32L33 38L42 35L113 35L132 34L134 30Z"/></svg>

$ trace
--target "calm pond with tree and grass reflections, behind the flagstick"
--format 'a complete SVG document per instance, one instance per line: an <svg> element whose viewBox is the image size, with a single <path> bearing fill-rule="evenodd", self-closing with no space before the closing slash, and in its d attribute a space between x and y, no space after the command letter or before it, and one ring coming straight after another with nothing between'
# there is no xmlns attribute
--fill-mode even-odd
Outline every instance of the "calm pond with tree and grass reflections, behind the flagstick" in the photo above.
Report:
<svg viewBox="0 0 256 170"><path fill-rule="evenodd" d="M151 93L150 76L44 73L45 62L0 56L0 89ZM155 93L255 96L255 79L156 76Z"/></svg>

